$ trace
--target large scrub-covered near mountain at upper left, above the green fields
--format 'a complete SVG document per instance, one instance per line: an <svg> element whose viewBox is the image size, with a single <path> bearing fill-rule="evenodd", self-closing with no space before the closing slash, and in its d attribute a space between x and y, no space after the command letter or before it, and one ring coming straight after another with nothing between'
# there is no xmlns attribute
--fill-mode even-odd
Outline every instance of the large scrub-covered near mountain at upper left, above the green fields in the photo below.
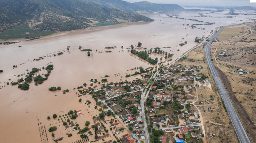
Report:
<svg viewBox="0 0 256 143"><path fill-rule="evenodd" d="M99 4L81 0L1 0L0 31L22 23L32 24L40 31L70 31L89 27L90 18L118 22L115 18L131 22L152 19Z"/></svg>

